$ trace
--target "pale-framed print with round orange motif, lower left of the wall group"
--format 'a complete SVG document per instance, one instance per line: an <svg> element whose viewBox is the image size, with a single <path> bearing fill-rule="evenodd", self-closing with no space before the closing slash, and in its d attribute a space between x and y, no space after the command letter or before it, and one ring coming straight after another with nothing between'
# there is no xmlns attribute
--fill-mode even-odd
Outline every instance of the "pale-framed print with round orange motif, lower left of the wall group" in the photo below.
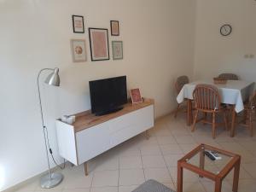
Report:
<svg viewBox="0 0 256 192"><path fill-rule="evenodd" d="M71 50L73 55L73 62L83 62L87 60L85 40L71 39Z"/></svg>

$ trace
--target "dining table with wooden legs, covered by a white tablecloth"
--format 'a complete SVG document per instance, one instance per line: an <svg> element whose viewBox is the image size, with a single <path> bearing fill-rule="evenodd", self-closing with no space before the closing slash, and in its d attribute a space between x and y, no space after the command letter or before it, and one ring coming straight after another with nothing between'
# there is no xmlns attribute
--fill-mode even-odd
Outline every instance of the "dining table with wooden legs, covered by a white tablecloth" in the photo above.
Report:
<svg viewBox="0 0 256 192"><path fill-rule="evenodd" d="M212 84L218 88L218 94L221 97L221 103L231 106L232 121L230 137L235 136L236 113L244 109L246 102L254 91L254 82L244 80L227 80L225 84L214 84L213 79L196 80L189 84L184 84L182 90L177 95L177 102L187 101L187 125L193 122L192 101L193 91L197 84Z"/></svg>

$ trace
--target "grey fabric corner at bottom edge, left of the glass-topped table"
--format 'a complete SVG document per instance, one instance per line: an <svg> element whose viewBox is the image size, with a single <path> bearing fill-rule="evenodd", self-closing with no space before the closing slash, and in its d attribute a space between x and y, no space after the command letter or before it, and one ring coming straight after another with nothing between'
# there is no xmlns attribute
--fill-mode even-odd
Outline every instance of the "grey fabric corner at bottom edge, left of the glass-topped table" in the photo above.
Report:
<svg viewBox="0 0 256 192"><path fill-rule="evenodd" d="M137 189L134 189L132 192L175 192L175 191L167 188L162 183L158 183L157 181L150 179L145 183L141 184L140 186L138 186Z"/></svg>

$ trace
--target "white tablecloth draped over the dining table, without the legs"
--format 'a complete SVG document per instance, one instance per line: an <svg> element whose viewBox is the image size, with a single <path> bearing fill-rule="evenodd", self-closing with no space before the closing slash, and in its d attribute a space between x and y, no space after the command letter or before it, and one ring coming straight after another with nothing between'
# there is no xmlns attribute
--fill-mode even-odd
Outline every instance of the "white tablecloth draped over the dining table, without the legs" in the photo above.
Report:
<svg viewBox="0 0 256 192"><path fill-rule="evenodd" d="M254 83L241 80L228 80L227 84L214 84L212 80L198 80L185 84L177 96L177 102L181 103L185 98L193 99L193 91L196 84L213 84L218 87L218 93L221 96L222 103L236 105L236 113L241 112L243 102L253 94Z"/></svg>

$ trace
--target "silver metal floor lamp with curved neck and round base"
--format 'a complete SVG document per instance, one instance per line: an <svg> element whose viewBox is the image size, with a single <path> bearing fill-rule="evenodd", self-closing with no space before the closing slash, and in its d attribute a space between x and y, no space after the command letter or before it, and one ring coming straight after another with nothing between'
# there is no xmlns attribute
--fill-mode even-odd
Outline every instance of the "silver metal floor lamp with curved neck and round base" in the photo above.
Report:
<svg viewBox="0 0 256 192"><path fill-rule="evenodd" d="M50 171L50 166L49 166L49 155L48 155L48 147L47 144L49 142L48 138L48 131L47 127L44 125L44 114L43 114L43 109L42 109L42 102L41 102L41 94L40 94L40 84L39 84L39 77L40 74L44 71L51 71L52 73L49 74L49 76L45 79L44 83L53 85L53 86L60 86L60 77L59 77L59 68L44 68L40 70L38 73L38 97L39 97L39 105L40 105L40 112L41 112L41 119L42 119L42 127L44 131L44 145L45 145L45 152L46 152L46 157L47 157L47 162L48 162L48 174L45 175L44 177L41 177L41 188L53 188L59 183L61 183L63 176L61 173L54 173ZM51 149L49 148L49 152L51 152Z"/></svg>

